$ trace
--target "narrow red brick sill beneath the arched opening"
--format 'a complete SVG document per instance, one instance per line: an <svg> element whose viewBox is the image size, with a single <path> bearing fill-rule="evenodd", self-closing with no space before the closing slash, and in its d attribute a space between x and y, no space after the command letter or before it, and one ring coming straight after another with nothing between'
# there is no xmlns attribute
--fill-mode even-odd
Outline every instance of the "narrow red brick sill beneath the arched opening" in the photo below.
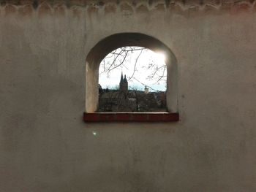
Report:
<svg viewBox="0 0 256 192"><path fill-rule="evenodd" d="M85 122L175 122L178 112L84 112Z"/></svg>

